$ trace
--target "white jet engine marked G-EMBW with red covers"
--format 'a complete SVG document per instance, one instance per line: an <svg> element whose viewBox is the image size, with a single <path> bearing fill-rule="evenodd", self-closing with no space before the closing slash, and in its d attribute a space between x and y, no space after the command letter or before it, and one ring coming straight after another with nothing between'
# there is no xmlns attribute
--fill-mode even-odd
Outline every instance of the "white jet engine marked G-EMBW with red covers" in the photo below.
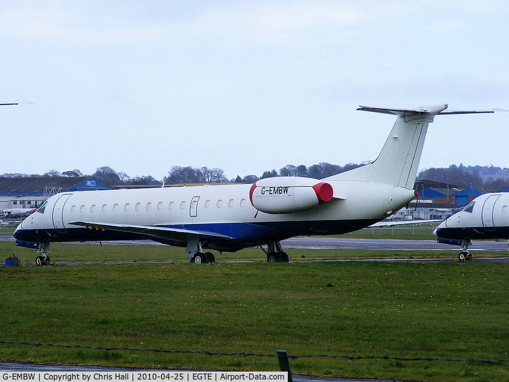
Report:
<svg viewBox="0 0 509 382"><path fill-rule="evenodd" d="M274 177L259 180L249 190L254 208L267 214L292 214L332 199L332 186L312 178Z"/></svg>

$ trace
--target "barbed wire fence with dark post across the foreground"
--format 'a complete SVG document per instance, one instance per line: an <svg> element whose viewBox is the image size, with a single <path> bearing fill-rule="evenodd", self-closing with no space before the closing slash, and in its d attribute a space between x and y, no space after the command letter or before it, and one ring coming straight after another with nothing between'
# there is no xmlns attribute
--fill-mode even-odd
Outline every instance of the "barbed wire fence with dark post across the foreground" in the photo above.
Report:
<svg viewBox="0 0 509 382"><path fill-rule="evenodd" d="M288 372L289 382L292 382L290 361L299 358L337 358L348 361L357 360L393 360L393 361L426 361L426 362L466 362L466 363L484 363L484 364L503 364L509 363L509 360L476 360L476 359L454 359L454 358L439 358L439 357L416 357L416 358L404 358L404 357L391 357L391 356L345 356L345 355L324 355L324 354L310 354L310 355L289 355L286 350L277 350L276 354L256 354L249 352L236 352L236 353L224 353L215 351L203 351L203 350L165 350L165 349L150 349L150 348L137 348L137 347L104 347L104 346L92 346L92 345L69 345L69 344L54 344L54 343L32 343L32 342L20 342L20 341L0 341L0 344L7 345L27 345L27 346L53 346L53 347L64 347L64 348L85 348L94 350L128 350L128 351L144 351L144 352L156 352L166 354L196 354L196 355L207 355L207 356L241 356L241 357L272 357L277 358L279 362L279 368L281 371Z"/></svg>

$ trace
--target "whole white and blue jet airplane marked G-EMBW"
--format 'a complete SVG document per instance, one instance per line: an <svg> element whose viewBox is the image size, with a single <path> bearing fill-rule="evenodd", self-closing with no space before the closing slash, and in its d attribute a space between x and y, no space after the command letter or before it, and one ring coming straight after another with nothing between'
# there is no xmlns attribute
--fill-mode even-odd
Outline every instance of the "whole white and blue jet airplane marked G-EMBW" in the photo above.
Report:
<svg viewBox="0 0 509 382"><path fill-rule="evenodd" d="M51 242L139 240L185 247L190 262L214 262L206 249L236 252L267 245L267 261L288 261L279 244L295 236L355 231L392 215L416 195L422 147L447 104L414 109L360 106L397 115L378 158L325 179L266 178L254 184L64 192L51 196L15 230L16 245L48 261Z"/></svg>

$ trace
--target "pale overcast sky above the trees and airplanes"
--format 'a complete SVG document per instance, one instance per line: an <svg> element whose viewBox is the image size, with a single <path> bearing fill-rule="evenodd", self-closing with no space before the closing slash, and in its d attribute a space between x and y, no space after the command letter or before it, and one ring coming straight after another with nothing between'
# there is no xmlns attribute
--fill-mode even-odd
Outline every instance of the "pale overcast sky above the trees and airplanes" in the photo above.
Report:
<svg viewBox="0 0 509 382"><path fill-rule="evenodd" d="M509 109L509 4L22 1L0 5L0 174L152 175L374 160L395 117ZM509 113L437 116L420 169L509 167Z"/></svg>

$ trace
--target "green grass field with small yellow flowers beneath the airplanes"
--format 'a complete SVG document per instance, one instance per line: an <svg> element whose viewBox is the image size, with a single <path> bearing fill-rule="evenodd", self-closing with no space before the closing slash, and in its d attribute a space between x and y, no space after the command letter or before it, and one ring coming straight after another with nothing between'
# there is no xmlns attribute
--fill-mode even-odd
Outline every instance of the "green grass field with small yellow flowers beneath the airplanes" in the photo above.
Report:
<svg viewBox="0 0 509 382"><path fill-rule="evenodd" d="M7 257L12 252L23 262L35 256L33 250L0 242L0 253ZM290 257L383 258L388 252L292 250ZM493 254L500 255L487 253ZM2 341L273 355L286 349L296 356L509 360L505 263L283 264L266 263L259 250L243 250L221 259L254 262L194 266L185 262L181 248L98 244L54 244L50 255L58 262L95 263L0 267ZM442 255L450 257L450 252ZM399 256L412 255L405 251ZM167 260L175 262L146 263ZM140 263L112 263L118 261ZM0 344L0 359L278 370L277 360L270 357L13 344ZM312 357L290 360L290 365L294 373L323 376L509 380L509 363Z"/></svg>

